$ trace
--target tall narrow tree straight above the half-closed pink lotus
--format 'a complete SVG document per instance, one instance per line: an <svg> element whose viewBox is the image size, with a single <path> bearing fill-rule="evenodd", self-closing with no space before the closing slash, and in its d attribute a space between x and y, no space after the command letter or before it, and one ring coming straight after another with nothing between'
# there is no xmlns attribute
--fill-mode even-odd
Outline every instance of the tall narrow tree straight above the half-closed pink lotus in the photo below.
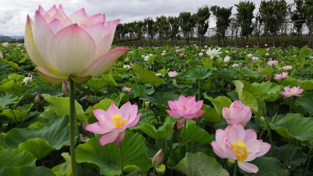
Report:
<svg viewBox="0 0 313 176"><path fill-rule="evenodd" d="M253 31L251 26L253 16L253 11L255 9L255 5L253 2L250 1L240 1L238 4L235 4L237 7L237 14L236 18L241 27L241 36L242 40L246 37L246 43L248 43L248 37Z"/></svg>

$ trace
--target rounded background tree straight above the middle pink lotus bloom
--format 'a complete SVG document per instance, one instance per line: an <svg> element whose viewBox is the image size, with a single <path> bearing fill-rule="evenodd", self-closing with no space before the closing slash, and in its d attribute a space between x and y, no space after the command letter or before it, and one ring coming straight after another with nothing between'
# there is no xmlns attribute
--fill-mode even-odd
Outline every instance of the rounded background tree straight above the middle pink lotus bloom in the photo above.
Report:
<svg viewBox="0 0 313 176"><path fill-rule="evenodd" d="M186 40L186 45L189 45L192 28L195 27L195 19L190 12L179 13L179 26Z"/></svg>

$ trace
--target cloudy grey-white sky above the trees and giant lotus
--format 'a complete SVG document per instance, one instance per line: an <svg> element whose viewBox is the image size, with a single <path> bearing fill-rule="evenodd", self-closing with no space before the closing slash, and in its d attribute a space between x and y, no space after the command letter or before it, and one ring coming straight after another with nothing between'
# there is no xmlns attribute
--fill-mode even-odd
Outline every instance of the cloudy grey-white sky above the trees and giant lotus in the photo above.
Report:
<svg viewBox="0 0 313 176"><path fill-rule="evenodd" d="M258 8L261 0L252 1ZM204 4L231 7L238 2L239 0L0 0L0 34L23 35L27 14L33 17L39 4L45 10L53 4L62 4L67 14L85 8L88 15L105 13L109 21L121 19L121 22L131 22L148 16L155 18L162 14L178 16L181 11L196 12ZM233 14L235 13L236 8L233 7ZM210 27L214 25L212 19Z"/></svg>

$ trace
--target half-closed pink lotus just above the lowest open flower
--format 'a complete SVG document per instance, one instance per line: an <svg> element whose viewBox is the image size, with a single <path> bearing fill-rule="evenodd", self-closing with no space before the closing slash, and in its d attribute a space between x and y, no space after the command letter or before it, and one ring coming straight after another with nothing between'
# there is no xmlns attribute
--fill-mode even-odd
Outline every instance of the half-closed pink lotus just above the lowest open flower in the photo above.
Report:
<svg viewBox="0 0 313 176"><path fill-rule="evenodd" d="M243 126L252 116L250 106L245 106L240 100L234 101L229 108L224 107L222 114L229 125L240 123Z"/></svg>

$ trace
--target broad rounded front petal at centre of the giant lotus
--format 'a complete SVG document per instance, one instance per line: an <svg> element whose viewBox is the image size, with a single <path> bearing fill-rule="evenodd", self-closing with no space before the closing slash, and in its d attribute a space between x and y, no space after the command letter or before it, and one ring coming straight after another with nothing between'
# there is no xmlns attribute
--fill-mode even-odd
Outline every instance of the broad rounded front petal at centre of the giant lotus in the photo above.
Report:
<svg viewBox="0 0 313 176"><path fill-rule="evenodd" d="M95 48L92 37L77 24L72 24L53 36L49 45L48 60L58 71L75 75L82 73L90 64L88 58L94 58ZM64 64L64 61L71 66Z"/></svg>

